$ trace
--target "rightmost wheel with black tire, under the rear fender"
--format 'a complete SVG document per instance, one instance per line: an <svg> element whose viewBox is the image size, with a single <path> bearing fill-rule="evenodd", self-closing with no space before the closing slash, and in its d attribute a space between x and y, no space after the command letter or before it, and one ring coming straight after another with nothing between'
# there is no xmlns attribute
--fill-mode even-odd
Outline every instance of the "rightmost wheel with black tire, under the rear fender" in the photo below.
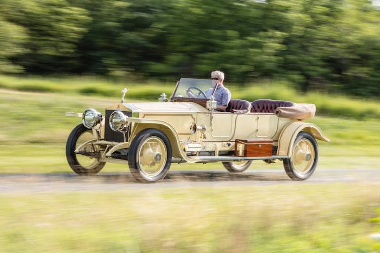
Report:
<svg viewBox="0 0 380 253"><path fill-rule="evenodd" d="M305 145L310 149L304 149L309 150L310 152L301 152L302 150L298 152L301 158L297 158L297 151L295 151L298 147L297 145L302 145L301 142L305 142ZM312 147L312 148L311 148ZM304 151L303 150L303 151ZM302 163L305 164L304 171L300 171L299 168L296 168L295 165L302 164L299 163L299 161L304 161ZM309 160L308 160L309 159ZM292 151L292 157L284 159L284 169L286 174L291 178L292 180L305 180L308 179L315 171L317 167L318 162L318 144L317 141L314 139L314 137L307 133L307 132L300 132L297 135L296 140L294 141L293 145L293 151ZM298 163L298 164L297 164Z"/></svg>

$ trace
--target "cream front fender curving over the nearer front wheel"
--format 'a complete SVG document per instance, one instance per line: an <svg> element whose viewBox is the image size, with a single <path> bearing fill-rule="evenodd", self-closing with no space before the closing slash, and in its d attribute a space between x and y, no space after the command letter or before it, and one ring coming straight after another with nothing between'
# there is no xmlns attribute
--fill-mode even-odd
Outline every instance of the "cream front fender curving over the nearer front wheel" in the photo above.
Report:
<svg viewBox="0 0 380 253"><path fill-rule="evenodd" d="M169 123L162 120L145 118L127 118L127 121L133 123L133 129L131 132L131 142L140 131L147 128L156 128L164 132L166 136L169 138L174 157L181 158L189 163L197 162L197 160L188 158L186 154L182 151L180 138L178 137L176 130Z"/></svg>

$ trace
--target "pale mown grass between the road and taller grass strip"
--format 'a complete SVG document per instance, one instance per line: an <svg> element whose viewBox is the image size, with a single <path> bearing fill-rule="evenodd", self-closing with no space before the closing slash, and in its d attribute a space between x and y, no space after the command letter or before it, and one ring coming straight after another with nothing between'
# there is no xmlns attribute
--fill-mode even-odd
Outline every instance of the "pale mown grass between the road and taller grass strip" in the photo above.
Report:
<svg viewBox="0 0 380 253"><path fill-rule="evenodd" d="M0 172L70 172L65 158L65 142L80 118L65 112L104 108L119 98L105 99L76 94L31 93L0 90ZM379 168L380 120L315 117L330 143L319 142L318 169ZM282 163L255 161L252 169L282 168ZM172 170L222 169L220 163L173 164ZM127 166L107 164L104 172L128 171Z"/></svg>

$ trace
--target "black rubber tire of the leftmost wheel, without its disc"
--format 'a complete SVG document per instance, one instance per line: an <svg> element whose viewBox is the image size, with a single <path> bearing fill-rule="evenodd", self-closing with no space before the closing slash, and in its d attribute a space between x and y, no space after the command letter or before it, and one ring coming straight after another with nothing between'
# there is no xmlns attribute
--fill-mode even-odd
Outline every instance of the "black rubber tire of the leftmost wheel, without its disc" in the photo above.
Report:
<svg viewBox="0 0 380 253"><path fill-rule="evenodd" d="M103 169L105 162L100 162L99 159L93 158L93 163L90 165L83 165L78 160L77 156L80 156L74 153L78 139L82 136L82 134L89 132L92 130L86 128L83 124L77 125L73 131L71 131L69 138L66 142L66 159L69 163L70 168L79 175L95 175L101 169Z"/></svg>

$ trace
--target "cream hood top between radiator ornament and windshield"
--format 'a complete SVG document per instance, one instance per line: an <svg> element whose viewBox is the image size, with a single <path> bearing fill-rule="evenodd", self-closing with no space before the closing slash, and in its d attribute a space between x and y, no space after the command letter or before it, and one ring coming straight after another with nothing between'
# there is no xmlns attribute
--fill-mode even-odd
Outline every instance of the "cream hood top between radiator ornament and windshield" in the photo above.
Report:
<svg viewBox="0 0 380 253"><path fill-rule="evenodd" d="M132 112L208 112L193 102L131 102L123 103L123 106Z"/></svg>

